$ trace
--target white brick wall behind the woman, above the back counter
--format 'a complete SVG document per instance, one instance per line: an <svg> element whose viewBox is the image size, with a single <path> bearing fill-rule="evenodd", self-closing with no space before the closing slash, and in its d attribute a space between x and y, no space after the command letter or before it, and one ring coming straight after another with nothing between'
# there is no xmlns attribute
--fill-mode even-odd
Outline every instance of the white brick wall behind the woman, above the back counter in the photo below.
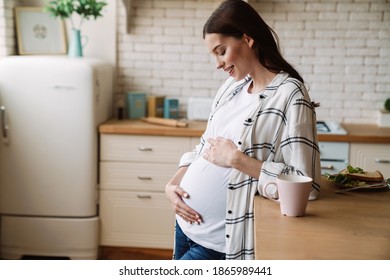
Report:
<svg viewBox="0 0 390 280"><path fill-rule="evenodd" d="M118 0L119 1L119 0ZM212 97L226 78L202 39L217 0L132 0L130 33L118 4L117 94L143 90L177 97ZM390 98L389 0L250 0L301 71L318 119L376 123Z"/></svg>

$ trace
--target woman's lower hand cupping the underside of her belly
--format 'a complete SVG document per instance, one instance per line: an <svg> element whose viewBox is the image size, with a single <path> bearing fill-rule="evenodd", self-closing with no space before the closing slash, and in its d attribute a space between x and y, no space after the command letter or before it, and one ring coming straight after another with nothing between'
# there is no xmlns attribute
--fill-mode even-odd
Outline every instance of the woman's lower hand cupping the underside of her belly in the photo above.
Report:
<svg viewBox="0 0 390 280"><path fill-rule="evenodd" d="M200 224L202 222L200 214L183 201L183 198L189 198L189 194L179 186L179 182L183 178L186 170L187 168L179 169L179 171L165 186L165 194L172 205L173 211L177 215L182 217L188 223Z"/></svg>

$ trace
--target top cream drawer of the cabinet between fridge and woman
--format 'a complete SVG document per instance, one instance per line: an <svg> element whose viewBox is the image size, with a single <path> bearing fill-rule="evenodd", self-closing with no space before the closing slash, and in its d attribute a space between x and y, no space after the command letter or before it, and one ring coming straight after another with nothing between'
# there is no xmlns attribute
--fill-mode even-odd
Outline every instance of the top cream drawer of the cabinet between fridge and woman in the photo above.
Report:
<svg viewBox="0 0 390 280"><path fill-rule="evenodd" d="M103 161L178 163L190 150L188 137L102 134L100 141Z"/></svg>

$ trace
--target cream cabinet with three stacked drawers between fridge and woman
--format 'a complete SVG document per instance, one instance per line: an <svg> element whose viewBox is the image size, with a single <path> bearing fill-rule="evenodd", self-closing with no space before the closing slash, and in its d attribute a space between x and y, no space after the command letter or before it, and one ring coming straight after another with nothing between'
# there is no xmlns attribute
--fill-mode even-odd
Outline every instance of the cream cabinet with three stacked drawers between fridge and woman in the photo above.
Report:
<svg viewBox="0 0 390 280"><path fill-rule="evenodd" d="M101 134L100 245L173 248L164 190L192 145L190 137Z"/></svg>

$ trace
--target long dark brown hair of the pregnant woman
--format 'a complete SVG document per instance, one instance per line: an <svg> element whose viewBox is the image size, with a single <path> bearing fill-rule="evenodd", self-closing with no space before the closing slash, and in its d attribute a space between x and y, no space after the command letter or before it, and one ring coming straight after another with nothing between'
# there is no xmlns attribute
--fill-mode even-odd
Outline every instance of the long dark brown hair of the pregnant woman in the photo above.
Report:
<svg viewBox="0 0 390 280"><path fill-rule="evenodd" d="M226 0L211 14L203 27L206 34L219 33L241 38L253 38L254 49L261 65L274 73L284 71L302 83L303 78L280 54L278 36L257 11L242 0Z"/></svg>

